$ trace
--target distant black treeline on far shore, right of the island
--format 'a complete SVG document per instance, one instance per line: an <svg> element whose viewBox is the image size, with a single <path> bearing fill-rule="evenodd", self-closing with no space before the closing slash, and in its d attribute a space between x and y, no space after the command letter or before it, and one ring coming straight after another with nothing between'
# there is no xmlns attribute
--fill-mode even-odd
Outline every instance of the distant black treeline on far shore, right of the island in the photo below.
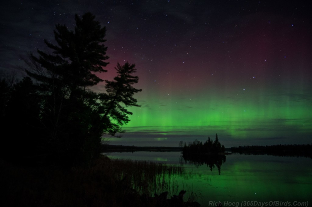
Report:
<svg viewBox="0 0 312 207"><path fill-rule="evenodd" d="M303 156L312 158L312 145L310 144L290 144L271 146L239 146L231 147L231 152L251 155L274 155L274 156Z"/></svg>

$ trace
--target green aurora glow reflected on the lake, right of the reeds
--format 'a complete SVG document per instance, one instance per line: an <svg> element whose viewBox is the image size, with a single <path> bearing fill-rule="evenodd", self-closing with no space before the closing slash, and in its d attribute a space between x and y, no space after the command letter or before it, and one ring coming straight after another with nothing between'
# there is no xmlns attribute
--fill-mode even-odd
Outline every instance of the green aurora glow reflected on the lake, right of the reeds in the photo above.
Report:
<svg viewBox="0 0 312 207"><path fill-rule="evenodd" d="M247 160L237 160L238 156ZM199 200L203 204L209 201L307 201L312 192L312 169L307 163L298 162L302 160L311 164L309 158L230 155L222 165L221 175L199 166L196 172L200 172L200 176L181 179L180 185L183 183L200 192Z"/></svg>

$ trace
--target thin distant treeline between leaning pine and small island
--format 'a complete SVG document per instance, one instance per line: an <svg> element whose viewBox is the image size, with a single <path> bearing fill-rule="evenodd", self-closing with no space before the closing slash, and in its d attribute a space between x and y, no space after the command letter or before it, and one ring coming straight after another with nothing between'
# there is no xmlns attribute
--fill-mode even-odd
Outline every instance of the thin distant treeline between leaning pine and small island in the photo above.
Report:
<svg viewBox="0 0 312 207"><path fill-rule="evenodd" d="M181 152L181 147L136 147L124 145L102 144L101 152Z"/></svg>

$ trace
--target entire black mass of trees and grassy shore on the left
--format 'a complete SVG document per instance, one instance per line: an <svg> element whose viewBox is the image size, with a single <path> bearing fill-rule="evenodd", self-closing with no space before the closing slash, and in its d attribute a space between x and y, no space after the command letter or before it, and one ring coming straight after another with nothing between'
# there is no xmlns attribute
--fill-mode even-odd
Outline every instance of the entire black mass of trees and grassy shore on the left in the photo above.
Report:
<svg viewBox="0 0 312 207"><path fill-rule="evenodd" d="M29 54L22 80L0 79L1 206L158 206L151 194L182 169L100 155L101 136L123 132L127 108L139 106L139 78L128 62L113 80L98 77L105 27L91 13L75 20L74 31L56 25L47 52ZM100 82L105 91L92 91Z"/></svg>

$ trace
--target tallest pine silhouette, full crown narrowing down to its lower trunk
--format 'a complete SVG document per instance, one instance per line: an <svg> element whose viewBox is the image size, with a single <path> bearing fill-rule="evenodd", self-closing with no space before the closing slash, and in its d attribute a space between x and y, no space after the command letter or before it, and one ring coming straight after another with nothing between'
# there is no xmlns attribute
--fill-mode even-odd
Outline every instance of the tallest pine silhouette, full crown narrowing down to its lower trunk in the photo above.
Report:
<svg viewBox="0 0 312 207"><path fill-rule="evenodd" d="M103 45L106 29L95 21L95 16L86 13L80 17L75 16L75 31L69 31L65 25L56 25L54 30L57 45L45 40L46 45L53 51L53 55L37 50L39 57L31 54L31 64L34 70L26 70L27 75L41 84L41 95L44 98L44 114L50 122L51 139L56 139L58 132L63 130L63 122L71 117L69 112L75 109L76 113L88 97L95 94L87 87L103 81L95 72L106 72L103 69L108 63L104 60L107 47ZM93 99L91 98L91 99ZM66 116L62 116L64 111ZM66 120L67 119L67 120Z"/></svg>

